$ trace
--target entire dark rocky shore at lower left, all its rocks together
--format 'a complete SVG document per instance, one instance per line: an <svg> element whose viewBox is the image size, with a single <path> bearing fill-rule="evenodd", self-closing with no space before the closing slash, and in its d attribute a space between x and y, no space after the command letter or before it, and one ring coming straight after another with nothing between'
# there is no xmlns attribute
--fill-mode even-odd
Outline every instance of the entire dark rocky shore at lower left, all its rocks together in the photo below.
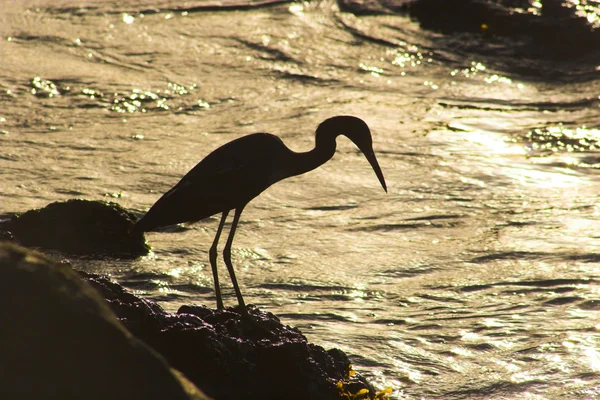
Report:
<svg viewBox="0 0 600 400"><path fill-rule="evenodd" d="M127 235L132 218L113 203L71 200L0 222L0 398L386 398L342 351L309 343L271 313L168 313L16 244L135 257L148 248Z"/></svg>

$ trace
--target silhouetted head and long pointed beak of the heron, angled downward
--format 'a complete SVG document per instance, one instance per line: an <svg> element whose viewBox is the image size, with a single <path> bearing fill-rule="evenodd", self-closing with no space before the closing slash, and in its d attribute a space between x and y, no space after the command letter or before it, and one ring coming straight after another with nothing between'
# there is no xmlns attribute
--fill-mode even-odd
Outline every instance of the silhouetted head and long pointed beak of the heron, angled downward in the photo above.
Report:
<svg viewBox="0 0 600 400"><path fill-rule="evenodd" d="M323 121L319 125L317 131L319 130L333 132L336 136L344 135L350 139L367 158L367 161L369 161L373 171L375 171L375 175L377 175L377 179L379 179L379 183L381 183L383 190L387 192L387 185L383 178L383 172L381 172L377 157L375 157L375 152L373 151L371 130L365 121L352 115L338 115Z"/></svg>

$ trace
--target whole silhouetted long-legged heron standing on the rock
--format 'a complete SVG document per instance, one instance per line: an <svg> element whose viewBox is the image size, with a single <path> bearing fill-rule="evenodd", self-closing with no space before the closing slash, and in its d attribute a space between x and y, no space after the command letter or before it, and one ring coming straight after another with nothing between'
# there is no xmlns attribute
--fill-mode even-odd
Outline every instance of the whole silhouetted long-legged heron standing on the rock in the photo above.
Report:
<svg viewBox="0 0 600 400"><path fill-rule="evenodd" d="M254 133L234 139L217 148L162 197L132 226L131 233L179 223L193 223L221 214L215 238L209 250L217 309L224 303L217 273L217 246L227 216L234 211L229 236L223 249L223 259L239 308L248 314L233 264L231 246L240 216L246 205L268 187L283 179L304 174L329 161L336 150L336 138L346 136L366 157L381 186L387 185L373 151L373 139L368 125L351 115L338 115L321 122L315 132L315 147L295 152L270 133Z"/></svg>

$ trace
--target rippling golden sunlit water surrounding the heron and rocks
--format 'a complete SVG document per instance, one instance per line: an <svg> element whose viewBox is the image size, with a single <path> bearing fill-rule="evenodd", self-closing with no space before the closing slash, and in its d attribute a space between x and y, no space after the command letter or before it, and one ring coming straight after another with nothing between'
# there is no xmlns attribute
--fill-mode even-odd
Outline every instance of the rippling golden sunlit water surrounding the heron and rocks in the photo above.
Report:
<svg viewBox="0 0 600 400"><path fill-rule="evenodd" d="M323 119L357 115L389 193L342 138L268 189L234 243L246 301L393 398L600 398L597 53L527 58L331 1L196 6L3 2L0 213L141 212L233 138L308 150ZM217 222L149 233L139 260L71 262L168 310L214 304Z"/></svg>

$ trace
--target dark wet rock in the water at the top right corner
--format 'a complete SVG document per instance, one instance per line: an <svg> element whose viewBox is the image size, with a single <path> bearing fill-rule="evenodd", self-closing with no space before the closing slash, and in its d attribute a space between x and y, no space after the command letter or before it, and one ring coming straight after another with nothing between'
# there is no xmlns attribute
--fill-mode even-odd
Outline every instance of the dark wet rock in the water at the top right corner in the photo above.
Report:
<svg viewBox="0 0 600 400"><path fill-rule="evenodd" d="M532 58L573 61L597 56L600 29L572 2L545 0L414 0L402 9L421 27L443 33L474 32L512 38Z"/></svg>

